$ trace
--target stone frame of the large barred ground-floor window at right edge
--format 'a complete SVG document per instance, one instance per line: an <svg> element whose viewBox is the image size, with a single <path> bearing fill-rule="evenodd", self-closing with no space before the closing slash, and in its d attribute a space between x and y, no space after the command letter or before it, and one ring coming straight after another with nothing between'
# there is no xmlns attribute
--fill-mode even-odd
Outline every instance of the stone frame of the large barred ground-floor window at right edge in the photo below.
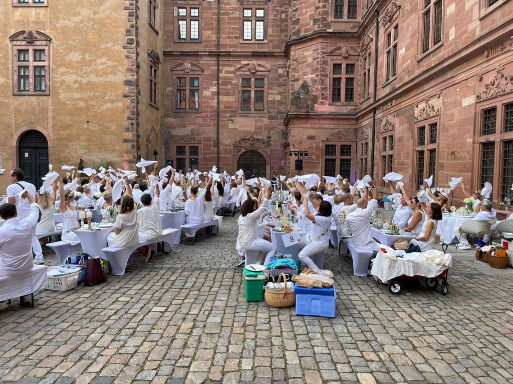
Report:
<svg viewBox="0 0 513 384"><path fill-rule="evenodd" d="M497 4L497 3L496 3ZM493 161L493 180L492 184L492 195L491 199L494 202L502 202L503 201L503 158L504 158L504 149L505 142L513 141L513 131L505 132L505 119L506 119L506 105L513 103L513 93L509 92L506 95L502 95L501 97L493 98L491 100L484 100L476 105L476 129L475 129L475 138L476 138L476 149L475 158L474 158L474 174L478 175L478 188L482 188L484 182L482 179L482 167L481 163L483 160L483 144L486 143L494 143L494 161ZM482 134L482 126L483 126L483 112L485 110L489 110L491 108L497 109L497 118L496 118L496 131L495 134L483 135ZM511 185L509 185L511 188ZM513 191L510 192L510 195L513 195ZM510 196L507 195L507 196Z"/></svg>

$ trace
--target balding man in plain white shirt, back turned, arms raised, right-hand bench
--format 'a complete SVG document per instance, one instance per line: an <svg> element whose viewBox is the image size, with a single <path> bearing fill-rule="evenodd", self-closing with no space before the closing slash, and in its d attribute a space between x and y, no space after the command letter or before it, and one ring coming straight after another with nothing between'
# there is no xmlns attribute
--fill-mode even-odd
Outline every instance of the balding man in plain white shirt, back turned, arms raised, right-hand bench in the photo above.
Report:
<svg viewBox="0 0 513 384"><path fill-rule="evenodd" d="M372 188L378 196L376 187L372 186ZM372 239L370 230L370 220L378 209L378 201L376 199L367 201L367 199L360 198L356 204L357 208L346 217L346 225L349 233L351 233L351 241L357 248L378 252L379 245Z"/></svg>

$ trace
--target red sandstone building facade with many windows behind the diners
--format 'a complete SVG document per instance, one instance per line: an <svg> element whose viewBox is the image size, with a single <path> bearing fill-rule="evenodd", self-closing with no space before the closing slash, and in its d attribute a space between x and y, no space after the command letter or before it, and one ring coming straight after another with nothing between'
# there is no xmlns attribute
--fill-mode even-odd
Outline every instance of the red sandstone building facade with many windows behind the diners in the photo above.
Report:
<svg viewBox="0 0 513 384"><path fill-rule="evenodd" d="M441 187L450 177L469 188L490 181L504 210L513 3L163 6L164 143L175 165L294 175L290 151L307 151L302 173L371 174L382 187L390 170L412 189L431 174Z"/></svg>

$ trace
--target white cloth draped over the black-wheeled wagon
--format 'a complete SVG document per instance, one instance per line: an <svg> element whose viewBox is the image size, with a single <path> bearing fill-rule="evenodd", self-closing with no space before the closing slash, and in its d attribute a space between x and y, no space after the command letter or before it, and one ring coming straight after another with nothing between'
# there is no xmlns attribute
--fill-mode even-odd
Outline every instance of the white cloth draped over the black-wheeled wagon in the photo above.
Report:
<svg viewBox="0 0 513 384"><path fill-rule="evenodd" d="M452 266L451 255L436 249L406 253L403 258L398 258L396 252L400 251L382 245L373 261L370 274L386 283L402 275L436 278Z"/></svg>

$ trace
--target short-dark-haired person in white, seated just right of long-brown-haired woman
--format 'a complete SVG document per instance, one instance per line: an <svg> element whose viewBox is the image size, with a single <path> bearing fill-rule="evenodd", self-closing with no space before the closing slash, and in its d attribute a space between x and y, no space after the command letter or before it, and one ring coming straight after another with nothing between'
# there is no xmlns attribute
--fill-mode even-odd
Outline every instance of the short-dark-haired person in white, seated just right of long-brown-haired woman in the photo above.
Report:
<svg viewBox="0 0 513 384"><path fill-rule="evenodd" d="M160 187L155 185L155 197L153 201L150 194L141 195L143 207L137 210L137 223L139 224L139 240L150 241L162 236L162 224L160 219ZM146 255L146 261L152 256L152 249L149 245L139 248L140 252Z"/></svg>

